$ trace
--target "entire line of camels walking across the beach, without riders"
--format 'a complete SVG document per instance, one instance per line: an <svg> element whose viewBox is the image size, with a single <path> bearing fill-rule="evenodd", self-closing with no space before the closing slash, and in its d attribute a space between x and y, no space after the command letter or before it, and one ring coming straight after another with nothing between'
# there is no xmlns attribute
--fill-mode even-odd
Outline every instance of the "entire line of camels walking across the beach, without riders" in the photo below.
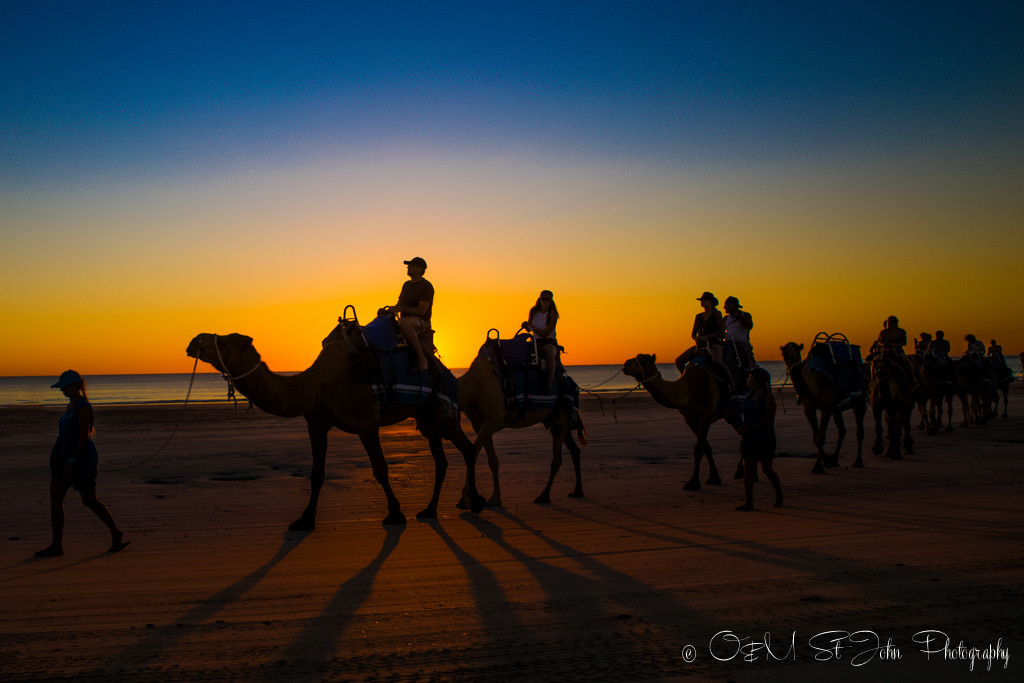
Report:
<svg viewBox="0 0 1024 683"><path fill-rule="evenodd" d="M456 379L440 360L430 356L429 373L416 372L407 355L408 346L393 315L379 315L370 325L359 326L353 316L339 318L338 327L324 340L323 349L305 371L284 376L270 371L253 346L250 337L240 334L204 333L188 344L186 353L213 366L253 404L281 417L305 419L312 453L310 493L305 509L290 526L312 529L316 506L326 476L328 432L336 427L359 437L387 502L385 524L402 524L406 516L391 488L388 466L380 441L380 428L408 418L427 439L434 460L434 484L427 506L417 513L421 519L437 516L437 504L447 469L443 442L451 441L462 454L466 466L465 485L458 507L478 513L487 505L502 505L499 461L494 436L502 429L524 428L542 424L551 432L552 460L548 480L535 499L545 504L566 447L572 460L575 483L570 497L583 496L580 442L584 425L579 411L580 388L558 362L557 387L540 387L545 376L541 354L528 333L517 333L510 340L492 337L488 331L469 370ZM379 311L380 312L380 311ZM384 341L381 341L384 340ZM532 342L532 343L531 343ZM532 352L530 349L532 348ZM839 465L840 451L846 436L843 414L850 411L856 423L857 455L852 467L863 467L862 445L864 415L867 405L876 423L872 452L900 459L912 454L910 413L916 404L929 433L942 426L942 407L946 408L946 430L952 429L952 396L961 399L963 426L982 424L997 415L997 390L1006 395L1012 374L999 374L990 362L963 357L943 365L927 353L910 356L911 365L879 355L870 364L860 358L859 347L843 335L819 334L807 357L802 358L803 344L790 342L780 348L787 378L792 379L799 401L811 426L815 450L812 472ZM984 360L987 360L985 358ZM1004 364L1005 365L1005 364ZM905 372L906 368L911 371ZM666 380L653 354L638 354L626 360L623 374L643 386L660 405L679 411L696 437L693 445L693 471L683 486L700 488L700 466L707 458L710 468L707 484L722 483L715 464L708 434L712 424L725 419L735 426L739 394L730 391L729 383L711 371L700 356L682 369L680 377ZM534 384L531 385L530 382ZM733 381L733 385L736 383ZM465 414L476 433L471 441L461 426ZM828 423L835 422L837 442L834 452L825 453ZM888 447L884 447L883 423L887 427ZM573 438L573 432L577 437ZM902 446L902 451L901 451ZM493 489L484 499L476 484L475 464L480 451L487 454ZM736 478L742 477L742 461Z"/></svg>

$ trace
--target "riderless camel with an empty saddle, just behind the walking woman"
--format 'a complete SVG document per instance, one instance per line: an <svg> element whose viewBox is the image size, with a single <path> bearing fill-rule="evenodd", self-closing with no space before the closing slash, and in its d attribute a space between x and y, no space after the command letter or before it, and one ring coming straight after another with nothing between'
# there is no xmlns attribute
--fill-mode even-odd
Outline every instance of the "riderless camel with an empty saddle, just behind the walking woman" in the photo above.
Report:
<svg viewBox="0 0 1024 683"><path fill-rule="evenodd" d="M819 335L820 337L820 335ZM816 338L817 339L817 338ZM846 438L846 423L843 420L842 391L836 384L833 373L826 370L824 364L811 361L812 357L827 355L827 336L825 341L811 344L811 349L807 352L807 361L801 358L803 344L787 342L780 347L782 360L785 362L785 370L793 379L793 387L797 390L800 404L804 408L804 415L811 425L811 436L814 440L815 461L811 472L814 474L824 474L825 467L839 466L839 453L843 447L843 440ZM830 360L830 357L829 357ZM867 413L867 402L863 394L850 397L850 410L853 411L854 421L857 424L857 459L853 461L852 467L863 467L862 457L864 446L864 415ZM820 420L818 414L821 414ZM825 457L825 435L828 432L828 421L836 423L836 451L830 457Z"/></svg>

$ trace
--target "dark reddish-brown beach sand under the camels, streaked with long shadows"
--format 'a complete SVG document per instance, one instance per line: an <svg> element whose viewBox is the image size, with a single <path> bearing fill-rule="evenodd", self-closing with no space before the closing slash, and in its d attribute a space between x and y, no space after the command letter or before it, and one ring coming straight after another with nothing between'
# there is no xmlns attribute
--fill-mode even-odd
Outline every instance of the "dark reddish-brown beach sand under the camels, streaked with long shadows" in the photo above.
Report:
<svg viewBox="0 0 1024 683"><path fill-rule="evenodd" d="M849 468L850 425L824 475L811 474L810 428L785 392L785 506L771 507L762 476L754 512L734 509L735 433L711 433L724 483L684 492L694 437L641 392L614 412L583 400L585 498L566 497L566 453L552 504L534 504L550 437L506 430L505 507L455 508L465 468L449 445L431 523L414 517L433 476L426 442L411 422L384 429L410 518L396 529L381 525L358 440L333 431L311 532L287 530L308 496L303 420L100 407L97 493L132 544L106 554L72 492L66 554L47 559L33 553L49 543L59 409L4 409L0 680L1019 680L1024 391L1012 388L1012 417L962 429L957 405L954 431L915 430L903 461L870 454L868 416L866 467ZM488 496L485 457L477 472ZM925 631L930 645L914 642Z"/></svg>

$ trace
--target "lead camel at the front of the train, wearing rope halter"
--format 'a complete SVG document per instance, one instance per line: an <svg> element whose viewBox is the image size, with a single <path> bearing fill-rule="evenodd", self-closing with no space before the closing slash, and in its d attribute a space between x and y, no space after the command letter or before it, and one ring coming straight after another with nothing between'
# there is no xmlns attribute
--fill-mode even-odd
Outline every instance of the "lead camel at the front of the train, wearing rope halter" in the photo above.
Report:
<svg viewBox="0 0 1024 683"><path fill-rule="evenodd" d="M476 490L473 444L462 431L458 409L453 412L442 408L433 398L421 404L375 402L370 384L356 381L353 377L345 344L326 345L312 366L294 376L271 372L253 346L252 338L244 335L201 334L191 340L185 352L220 371L260 410L281 417L305 418L313 458L309 473L309 503L289 528L314 528L316 503L327 471L328 432L332 427L359 437L370 458L374 477L387 497L388 514L384 523L403 524L406 516L388 480L380 428L407 418L416 420L417 428L430 444L434 460L434 487L430 503L416 516L421 519L437 516L437 500L447 469L442 438L452 441L462 452L473 512L483 509L485 501Z"/></svg>

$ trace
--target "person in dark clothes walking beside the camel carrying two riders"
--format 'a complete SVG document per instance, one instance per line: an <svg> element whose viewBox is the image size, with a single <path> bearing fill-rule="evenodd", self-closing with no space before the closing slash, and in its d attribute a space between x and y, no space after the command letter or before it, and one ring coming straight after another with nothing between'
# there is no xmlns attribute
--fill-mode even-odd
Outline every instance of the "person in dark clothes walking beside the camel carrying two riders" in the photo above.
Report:
<svg viewBox="0 0 1024 683"><path fill-rule="evenodd" d="M743 459L743 490L746 501L737 510L754 509L754 478L757 466L775 487L775 507L782 505L782 485L772 467L775 459L775 399L771 395L771 375L760 366L746 377L750 391L743 399L739 426L739 454Z"/></svg>

